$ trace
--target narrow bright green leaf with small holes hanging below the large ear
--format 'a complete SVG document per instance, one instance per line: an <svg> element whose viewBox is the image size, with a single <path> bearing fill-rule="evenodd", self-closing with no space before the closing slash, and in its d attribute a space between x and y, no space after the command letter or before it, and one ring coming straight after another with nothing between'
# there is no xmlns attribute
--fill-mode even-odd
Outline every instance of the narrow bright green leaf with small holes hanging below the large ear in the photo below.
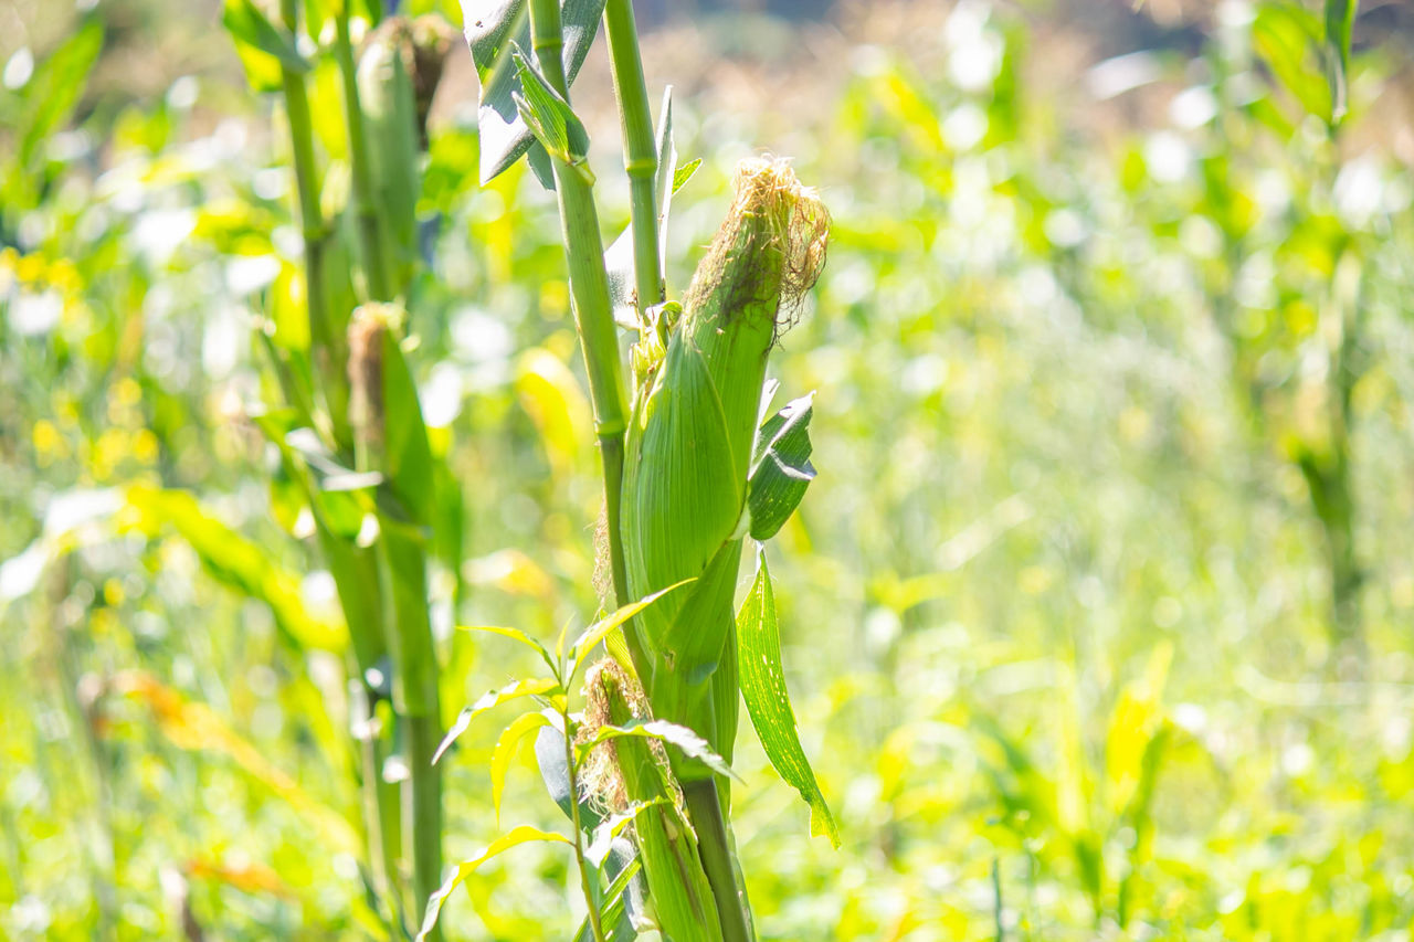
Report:
<svg viewBox="0 0 1414 942"><path fill-rule="evenodd" d="M756 552L756 580L737 612L741 697L772 768L810 806L810 835L824 835L839 847L840 830L824 803L824 795L820 793L820 785L814 781L810 761L796 733L790 692L786 690L785 670L781 666L781 628L776 624L776 600L771 591L765 550Z"/></svg>

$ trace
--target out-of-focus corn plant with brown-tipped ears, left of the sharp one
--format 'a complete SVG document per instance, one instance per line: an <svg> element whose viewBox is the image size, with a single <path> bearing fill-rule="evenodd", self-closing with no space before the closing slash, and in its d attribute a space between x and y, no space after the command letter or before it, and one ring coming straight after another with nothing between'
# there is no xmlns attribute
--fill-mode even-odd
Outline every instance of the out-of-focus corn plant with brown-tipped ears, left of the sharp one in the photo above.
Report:
<svg viewBox="0 0 1414 942"><path fill-rule="evenodd" d="M460 528L460 511L400 347L421 267L420 147L447 27L427 17L378 23L378 6L355 18L346 1L283 0L271 20L232 0L223 21L252 85L279 91L287 119L304 264L303 297L291 296L297 313L287 317L303 324L288 331L297 342L279 322L266 341L281 402L256 421L279 450L296 505L312 518L338 590L358 678L354 735L370 887L396 936L441 878L441 784L431 762L440 675L427 569L434 543L460 543L433 539ZM358 57L355 23L369 27ZM301 51L305 37L332 38L311 58ZM346 195L317 161L308 74L320 64L339 75ZM455 570L455 559L444 562Z"/></svg>

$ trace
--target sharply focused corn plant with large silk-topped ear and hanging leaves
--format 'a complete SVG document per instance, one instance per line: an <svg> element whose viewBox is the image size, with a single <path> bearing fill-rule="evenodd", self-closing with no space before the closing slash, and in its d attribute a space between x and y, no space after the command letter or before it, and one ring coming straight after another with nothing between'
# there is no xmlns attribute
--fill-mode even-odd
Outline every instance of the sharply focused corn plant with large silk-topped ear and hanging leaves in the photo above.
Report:
<svg viewBox="0 0 1414 942"><path fill-rule="evenodd" d="M515 720L496 745L492 788L503 788L509 750L537 731L542 771L571 819L573 836L519 827L462 863L428 907L492 856L526 840L573 847L588 918L581 938L754 938L730 826L730 761L744 699L775 768L810 805L812 832L837 842L834 823L795 731L781 668L779 629L765 554L800 502L810 465L810 397L762 421L766 361L824 264L829 214L782 161L749 160L735 198L682 301L667 300L663 226L676 168L672 102L655 139L628 0L564 4L464 3L482 82L484 181L522 154L556 191L571 307L590 380L604 474L604 546L615 614L551 653L536 648L546 680L523 680L462 711L445 748L481 711L523 696L546 702ZM631 225L605 253L588 167L588 137L570 82L602 18L624 132ZM624 386L619 330L635 337L632 395ZM732 612L744 542L756 574ZM583 717L571 683L602 639L608 656L587 679ZM557 760L557 761L556 761ZM633 843L609 854L619 829ZM590 837L590 847L585 840ZM625 863L626 861L626 863ZM646 888L632 891L641 871Z"/></svg>

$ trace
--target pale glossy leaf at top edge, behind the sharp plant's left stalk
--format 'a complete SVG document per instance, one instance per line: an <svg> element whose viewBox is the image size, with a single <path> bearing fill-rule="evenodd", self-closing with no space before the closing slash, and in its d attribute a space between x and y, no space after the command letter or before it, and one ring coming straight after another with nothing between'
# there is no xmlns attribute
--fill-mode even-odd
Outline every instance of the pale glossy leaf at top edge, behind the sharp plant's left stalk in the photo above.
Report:
<svg viewBox="0 0 1414 942"><path fill-rule="evenodd" d="M520 81L510 62L512 44L530 48L525 0L461 0L471 58L481 79L477 126L481 137L481 182L488 184L529 149L534 136L522 120L513 93ZM604 0L563 0L564 76L571 85L600 28Z"/></svg>

